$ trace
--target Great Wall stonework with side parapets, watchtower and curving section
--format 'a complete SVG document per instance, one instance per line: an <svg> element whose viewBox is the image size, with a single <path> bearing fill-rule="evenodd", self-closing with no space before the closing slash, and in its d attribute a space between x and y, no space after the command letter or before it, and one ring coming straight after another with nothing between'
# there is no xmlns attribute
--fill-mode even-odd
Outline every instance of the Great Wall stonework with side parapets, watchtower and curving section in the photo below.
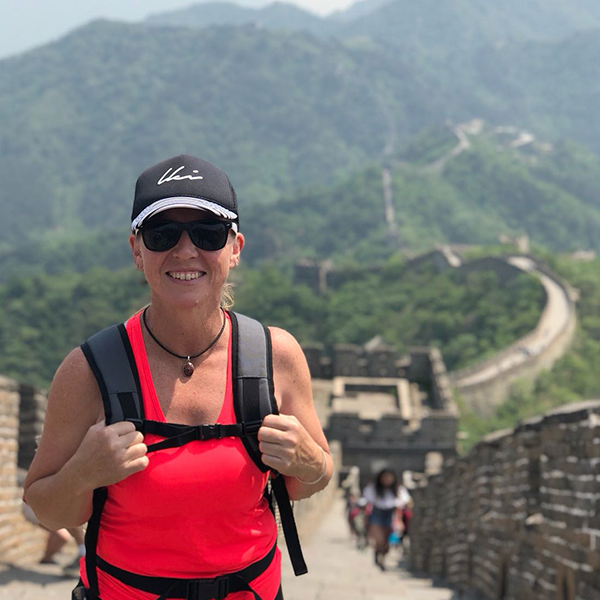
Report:
<svg viewBox="0 0 600 600"><path fill-rule="evenodd" d="M306 347L319 414L329 437L339 440L333 443L338 465L361 463L369 472L386 463L428 473L416 478L413 490L410 560L415 569L459 592L475 592L485 600L600 599L600 402L568 406L488 436L466 457L457 457L454 449L457 413L451 385L462 385L461 393L471 394L473 406L481 408L484 402L484 412L515 378L535 377L548 368L572 340L576 294L528 257L459 267L452 252L440 249L416 260L431 260L438 268L492 268L501 278L533 271L547 290L548 303L533 332L460 373L447 374L433 349L399 357L382 344L339 346L333 355L322 347ZM319 272L315 280L326 285L327 277ZM554 308L553 294L558 298ZM562 315L558 321L556 310ZM488 376L473 383L481 373ZM44 533L22 516L21 484L45 401L42 392L0 377L3 562L41 553ZM299 503L304 535L334 496L330 486L327 494Z"/></svg>

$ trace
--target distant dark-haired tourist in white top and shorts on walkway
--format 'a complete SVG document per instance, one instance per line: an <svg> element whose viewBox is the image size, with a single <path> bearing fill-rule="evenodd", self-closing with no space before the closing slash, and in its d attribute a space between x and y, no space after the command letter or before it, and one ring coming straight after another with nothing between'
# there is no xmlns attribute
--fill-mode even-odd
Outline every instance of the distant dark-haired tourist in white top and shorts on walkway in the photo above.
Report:
<svg viewBox="0 0 600 600"><path fill-rule="evenodd" d="M398 484L398 478L393 471L383 469L374 483L365 487L363 497L371 507L369 538L374 547L375 564L384 571L394 517L408 505L410 495L404 486Z"/></svg>

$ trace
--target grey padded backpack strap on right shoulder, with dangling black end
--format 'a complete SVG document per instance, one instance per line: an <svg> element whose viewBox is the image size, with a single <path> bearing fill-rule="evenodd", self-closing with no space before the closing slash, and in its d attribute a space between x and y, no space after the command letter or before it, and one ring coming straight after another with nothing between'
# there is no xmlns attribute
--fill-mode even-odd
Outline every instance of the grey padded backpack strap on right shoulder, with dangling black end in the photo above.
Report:
<svg viewBox="0 0 600 600"><path fill-rule="evenodd" d="M232 376L233 405L239 423L262 421L269 414L279 414L273 386L273 350L269 330L258 321L234 312L229 313L232 326ZM269 469L261 459L256 434L247 435L242 441L257 467L265 472ZM285 541L296 575L308 572L290 497L284 478L271 470L271 486Z"/></svg>

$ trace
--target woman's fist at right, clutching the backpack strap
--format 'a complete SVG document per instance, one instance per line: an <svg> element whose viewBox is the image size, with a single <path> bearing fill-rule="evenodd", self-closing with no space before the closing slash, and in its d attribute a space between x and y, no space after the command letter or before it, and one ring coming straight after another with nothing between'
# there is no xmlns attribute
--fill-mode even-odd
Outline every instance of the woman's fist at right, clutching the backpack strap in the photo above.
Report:
<svg viewBox="0 0 600 600"><path fill-rule="evenodd" d="M263 463L282 475L314 481L323 472L321 447L293 415L267 415L258 441Z"/></svg>

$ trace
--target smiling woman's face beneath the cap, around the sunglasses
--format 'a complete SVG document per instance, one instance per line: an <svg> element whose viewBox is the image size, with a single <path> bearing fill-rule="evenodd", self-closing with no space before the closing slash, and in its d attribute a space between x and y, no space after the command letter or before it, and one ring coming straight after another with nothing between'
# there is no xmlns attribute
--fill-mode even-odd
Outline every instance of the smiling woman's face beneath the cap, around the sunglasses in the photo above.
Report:
<svg viewBox="0 0 600 600"><path fill-rule="evenodd" d="M160 220L201 221L214 219L215 215L193 208L173 208L160 213ZM177 245L166 252L152 252L146 248L141 235L131 235L129 244L133 259L152 290L152 301L168 303L178 308L194 308L221 297L221 288L227 280L229 269L239 260L244 246L244 236L230 234L221 250L196 248L186 231ZM191 279L181 279L185 275Z"/></svg>

